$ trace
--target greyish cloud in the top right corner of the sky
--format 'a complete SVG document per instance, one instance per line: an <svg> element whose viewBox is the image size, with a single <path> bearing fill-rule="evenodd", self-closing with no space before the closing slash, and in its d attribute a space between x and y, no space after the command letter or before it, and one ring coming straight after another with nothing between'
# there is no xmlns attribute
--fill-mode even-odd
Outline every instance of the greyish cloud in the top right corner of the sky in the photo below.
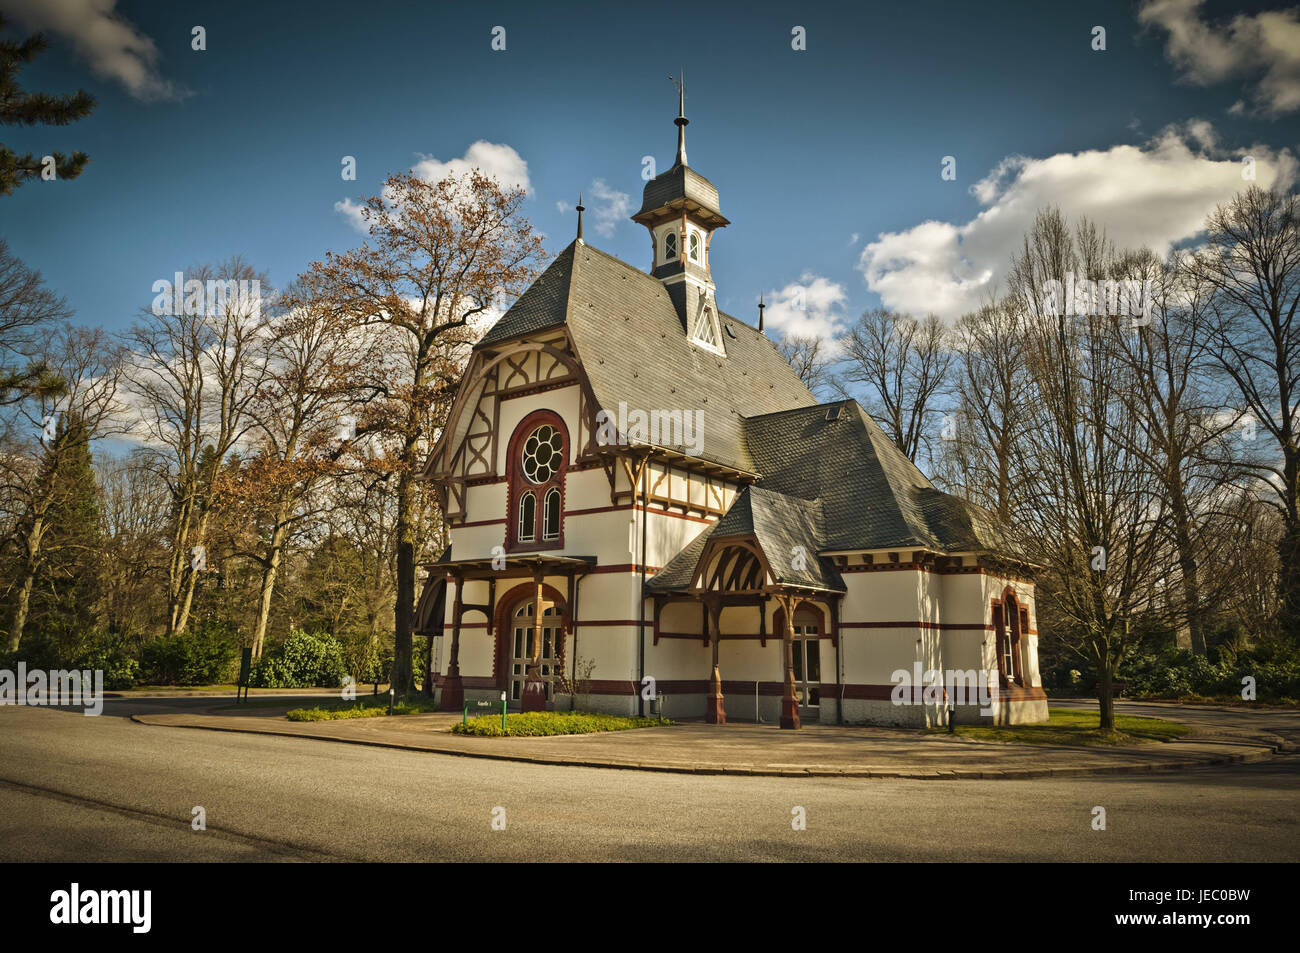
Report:
<svg viewBox="0 0 1300 953"><path fill-rule="evenodd" d="M1300 109L1300 9L1239 13L1226 23L1200 17L1204 0L1147 0L1138 12L1145 26L1169 34L1165 55L1199 86L1234 77L1258 77L1253 90L1261 113ZM1244 112L1236 103L1230 112Z"/></svg>

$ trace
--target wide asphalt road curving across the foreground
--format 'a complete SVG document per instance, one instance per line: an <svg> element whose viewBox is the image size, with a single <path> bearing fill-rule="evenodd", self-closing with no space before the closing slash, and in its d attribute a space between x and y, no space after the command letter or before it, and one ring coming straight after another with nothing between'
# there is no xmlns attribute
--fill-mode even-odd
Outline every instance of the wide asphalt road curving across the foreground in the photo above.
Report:
<svg viewBox="0 0 1300 953"><path fill-rule="evenodd" d="M110 701L101 718L0 709L0 861L1300 859L1295 755L1145 776L805 780L529 766L121 716L211 703ZM1176 716L1257 716L1300 737L1296 714ZM205 831L191 829L196 806ZM1105 831L1092 829L1096 806Z"/></svg>

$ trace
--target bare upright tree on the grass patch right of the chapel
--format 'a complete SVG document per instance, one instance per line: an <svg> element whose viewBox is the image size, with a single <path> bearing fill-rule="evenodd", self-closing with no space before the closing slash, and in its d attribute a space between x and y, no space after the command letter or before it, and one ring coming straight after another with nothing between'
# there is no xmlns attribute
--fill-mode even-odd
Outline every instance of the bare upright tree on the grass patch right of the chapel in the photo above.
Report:
<svg viewBox="0 0 1300 953"><path fill-rule="evenodd" d="M1040 567L1039 599L1053 638L1089 660L1098 676L1101 729L1114 731L1114 677L1135 614L1158 588L1165 499L1141 452L1144 433L1126 398L1134 371L1113 339L1112 315L1044 295L1048 282L1109 277L1113 255L1088 222L1071 234L1060 212L1039 215L1013 263L1011 290L1030 311L1027 369L1031 439L1013 445L1023 503L1013 532ZM1048 302L1052 302L1050 304Z"/></svg>

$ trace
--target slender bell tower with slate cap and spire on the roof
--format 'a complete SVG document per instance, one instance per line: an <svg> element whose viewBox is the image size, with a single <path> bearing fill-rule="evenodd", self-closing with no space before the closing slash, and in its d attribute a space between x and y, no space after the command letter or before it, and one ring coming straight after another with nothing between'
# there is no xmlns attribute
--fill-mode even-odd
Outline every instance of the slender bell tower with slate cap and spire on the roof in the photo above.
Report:
<svg viewBox="0 0 1300 953"><path fill-rule="evenodd" d="M731 222L718 207L718 189L686 164L686 82L677 86L677 159L646 182L641 211L632 221L650 233L650 274L663 282L681 317L682 329L708 350L724 354L708 267L714 230Z"/></svg>

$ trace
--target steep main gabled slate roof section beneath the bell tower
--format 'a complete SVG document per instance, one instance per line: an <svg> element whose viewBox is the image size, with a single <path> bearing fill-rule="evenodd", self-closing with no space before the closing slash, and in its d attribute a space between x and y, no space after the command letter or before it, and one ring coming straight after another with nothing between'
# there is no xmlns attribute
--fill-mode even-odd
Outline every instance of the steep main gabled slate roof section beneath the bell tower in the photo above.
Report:
<svg viewBox="0 0 1300 953"><path fill-rule="evenodd" d="M573 242L484 335L478 348L566 326L592 391L611 413L702 411L699 446L660 446L754 471L742 415L816 403L780 351L755 328L719 315L725 356L696 345L656 278ZM694 442L694 441L690 441ZM694 451L694 452L692 452Z"/></svg>

